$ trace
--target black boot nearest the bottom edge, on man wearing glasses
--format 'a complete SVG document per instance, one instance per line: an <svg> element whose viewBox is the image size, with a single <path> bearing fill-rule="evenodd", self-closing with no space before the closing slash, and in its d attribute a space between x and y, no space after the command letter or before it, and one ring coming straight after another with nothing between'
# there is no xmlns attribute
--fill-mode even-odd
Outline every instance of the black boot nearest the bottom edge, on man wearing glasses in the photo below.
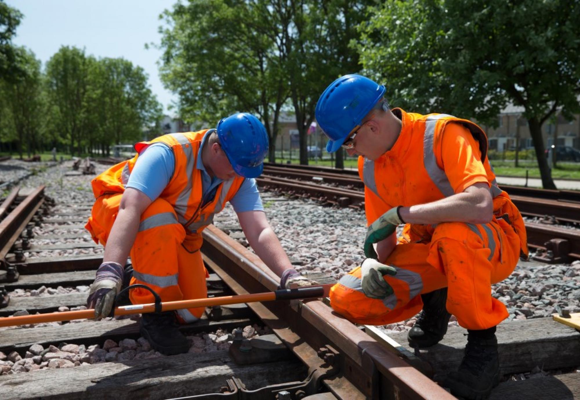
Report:
<svg viewBox="0 0 580 400"><path fill-rule="evenodd" d="M447 376L443 386L451 394L469 400L484 400L499 383L498 340L495 326L467 331L465 355L457 372Z"/></svg>

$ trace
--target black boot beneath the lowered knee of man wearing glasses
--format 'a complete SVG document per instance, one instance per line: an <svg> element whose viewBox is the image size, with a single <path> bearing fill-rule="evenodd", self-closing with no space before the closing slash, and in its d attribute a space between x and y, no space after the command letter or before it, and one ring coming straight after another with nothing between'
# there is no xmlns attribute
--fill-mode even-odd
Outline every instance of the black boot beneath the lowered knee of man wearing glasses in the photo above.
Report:
<svg viewBox="0 0 580 400"><path fill-rule="evenodd" d="M447 288L421 294L421 299L423 310L407 334L409 346L415 348L430 347L439 343L447 333L447 324L451 318L451 314L445 308Z"/></svg>

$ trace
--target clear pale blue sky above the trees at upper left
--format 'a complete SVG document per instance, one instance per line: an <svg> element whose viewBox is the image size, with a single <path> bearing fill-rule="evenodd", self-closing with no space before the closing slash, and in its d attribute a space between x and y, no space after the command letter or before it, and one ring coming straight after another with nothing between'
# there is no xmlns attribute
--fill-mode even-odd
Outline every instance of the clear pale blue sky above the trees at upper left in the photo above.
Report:
<svg viewBox="0 0 580 400"><path fill-rule="evenodd" d="M161 51L158 16L175 1L164 0L6 0L24 14L13 43L31 49L45 66L60 46L85 48L95 57L124 57L143 67L157 100L167 107L174 99L159 79Z"/></svg>

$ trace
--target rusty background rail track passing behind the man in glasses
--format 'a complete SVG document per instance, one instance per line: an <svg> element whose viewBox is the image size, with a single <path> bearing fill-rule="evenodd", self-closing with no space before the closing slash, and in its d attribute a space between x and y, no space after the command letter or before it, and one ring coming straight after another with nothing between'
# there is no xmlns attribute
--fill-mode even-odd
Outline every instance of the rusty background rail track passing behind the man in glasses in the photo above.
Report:
<svg viewBox="0 0 580 400"><path fill-rule="evenodd" d="M328 205L364 209L364 184L354 170L265 163L256 179L263 188L297 197L310 197ZM580 192L500 186L524 217L528 244L537 259L567 263L580 259Z"/></svg>

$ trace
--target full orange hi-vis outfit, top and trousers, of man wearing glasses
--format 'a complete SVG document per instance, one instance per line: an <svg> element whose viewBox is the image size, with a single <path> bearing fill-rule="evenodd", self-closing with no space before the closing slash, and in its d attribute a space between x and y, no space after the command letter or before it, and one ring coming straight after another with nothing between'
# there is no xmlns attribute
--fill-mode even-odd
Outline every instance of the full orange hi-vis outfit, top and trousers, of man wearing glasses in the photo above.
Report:
<svg viewBox="0 0 580 400"><path fill-rule="evenodd" d="M411 318L423 307L419 294L447 286L447 310L459 325L491 328L508 315L491 296L491 284L507 278L528 249L521 215L496 185L487 137L465 119L393 112L403 122L393 148L375 161L358 158L368 224L393 207L437 201L476 183L490 185L494 217L487 224L406 224L382 260L397 268L397 275L385 276L394 293L382 300L366 297L358 267L333 286L331 306L353 322L384 325Z"/></svg>

